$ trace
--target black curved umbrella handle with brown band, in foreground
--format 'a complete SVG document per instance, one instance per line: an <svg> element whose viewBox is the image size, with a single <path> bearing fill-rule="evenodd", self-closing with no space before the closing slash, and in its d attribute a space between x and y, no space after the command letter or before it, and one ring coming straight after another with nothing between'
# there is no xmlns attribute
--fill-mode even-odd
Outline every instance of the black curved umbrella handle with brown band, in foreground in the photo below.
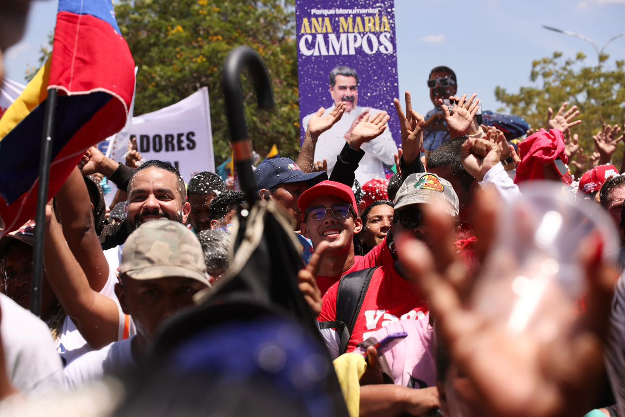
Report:
<svg viewBox="0 0 625 417"><path fill-rule="evenodd" d="M224 62L221 87L226 101L226 118L230 128L234 166L239 176L241 190L246 194L247 203L252 205L258 196L256 178L252 171L252 141L247 131L241 89L241 71L246 68L254 83L258 108L270 109L274 106L274 100L271 79L259 54L249 46L239 46L229 53Z"/></svg>

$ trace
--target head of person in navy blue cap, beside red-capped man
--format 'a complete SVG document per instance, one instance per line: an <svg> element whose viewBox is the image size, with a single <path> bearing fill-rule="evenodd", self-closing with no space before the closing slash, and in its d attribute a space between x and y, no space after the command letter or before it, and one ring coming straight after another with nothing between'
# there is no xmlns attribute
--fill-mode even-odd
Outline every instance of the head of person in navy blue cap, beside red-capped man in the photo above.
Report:
<svg viewBox="0 0 625 417"><path fill-rule="evenodd" d="M272 199L299 224L301 213L297 199L310 186L327 179L325 172L306 174L289 158L262 161L254 170L256 191L262 199Z"/></svg>

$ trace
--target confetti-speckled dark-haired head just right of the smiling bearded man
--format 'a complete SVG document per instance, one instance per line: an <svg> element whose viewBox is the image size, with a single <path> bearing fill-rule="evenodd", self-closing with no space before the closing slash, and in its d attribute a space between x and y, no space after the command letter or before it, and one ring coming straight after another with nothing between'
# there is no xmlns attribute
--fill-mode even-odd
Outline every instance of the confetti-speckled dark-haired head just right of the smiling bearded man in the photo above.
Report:
<svg viewBox="0 0 625 417"><path fill-rule="evenodd" d="M187 186L187 199L191 205L189 223L195 233L211 228L209 206L212 199L224 191L226 191L226 184L215 173L203 171L189 180Z"/></svg>

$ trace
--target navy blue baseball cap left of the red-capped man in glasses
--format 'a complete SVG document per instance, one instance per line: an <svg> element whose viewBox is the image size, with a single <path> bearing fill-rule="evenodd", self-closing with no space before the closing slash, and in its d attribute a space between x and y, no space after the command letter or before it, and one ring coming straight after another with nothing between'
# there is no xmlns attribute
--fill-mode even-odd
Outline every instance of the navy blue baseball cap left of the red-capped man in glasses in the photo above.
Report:
<svg viewBox="0 0 625 417"><path fill-rule="evenodd" d="M306 174L292 159L272 158L262 161L254 171L256 191L276 188L280 184L305 181L309 186L327 179L325 172Z"/></svg>

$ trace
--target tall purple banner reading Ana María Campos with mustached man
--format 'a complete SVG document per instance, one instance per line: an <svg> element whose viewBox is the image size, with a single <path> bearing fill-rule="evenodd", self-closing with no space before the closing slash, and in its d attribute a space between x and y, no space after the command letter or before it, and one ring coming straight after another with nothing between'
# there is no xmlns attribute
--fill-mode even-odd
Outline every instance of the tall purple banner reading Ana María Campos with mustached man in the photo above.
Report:
<svg viewBox="0 0 625 417"><path fill-rule="evenodd" d="M315 149L314 160L326 159L329 174L359 116L367 109L371 115L387 111L387 129L362 145L356 170L361 184L386 178L401 144L392 101L399 97L393 0L296 0L296 24L302 141L319 108L327 114L346 103L341 120L319 136Z"/></svg>

